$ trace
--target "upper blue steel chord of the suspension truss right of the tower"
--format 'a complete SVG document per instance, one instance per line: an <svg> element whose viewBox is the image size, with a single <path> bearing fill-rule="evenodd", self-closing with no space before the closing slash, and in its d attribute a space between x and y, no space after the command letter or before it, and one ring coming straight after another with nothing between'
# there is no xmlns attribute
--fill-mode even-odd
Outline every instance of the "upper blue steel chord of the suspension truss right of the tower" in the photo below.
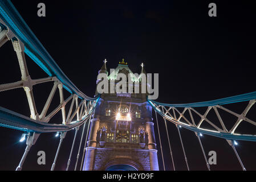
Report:
<svg viewBox="0 0 256 182"><path fill-rule="evenodd" d="M162 105L162 106L170 106L170 107L208 107L208 106L231 104L235 102L250 101L254 99L256 99L256 92L241 94L233 97L221 98L213 101L196 102L191 104L163 104L163 103L152 101L152 100L151 102Z"/></svg>

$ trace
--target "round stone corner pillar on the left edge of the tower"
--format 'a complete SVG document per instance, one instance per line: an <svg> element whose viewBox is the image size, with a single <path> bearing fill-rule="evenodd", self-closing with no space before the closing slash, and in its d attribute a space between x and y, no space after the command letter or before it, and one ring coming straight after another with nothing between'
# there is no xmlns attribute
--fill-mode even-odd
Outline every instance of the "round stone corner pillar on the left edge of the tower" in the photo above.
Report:
<svg viewBox="0 0 256 182"><path fill-rule="evenodd" d="M86 158L84 159L84 171L92 171L94 169L94 158L96 150L97 130L99 129L100 119L91 119L90 139L87 142Z"/></svg>

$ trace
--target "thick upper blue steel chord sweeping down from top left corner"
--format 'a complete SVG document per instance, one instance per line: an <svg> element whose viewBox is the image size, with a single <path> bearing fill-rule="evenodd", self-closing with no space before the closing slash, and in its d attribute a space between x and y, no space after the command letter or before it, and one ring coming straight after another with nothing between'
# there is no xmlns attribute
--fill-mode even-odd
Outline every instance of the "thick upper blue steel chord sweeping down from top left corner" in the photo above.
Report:
<svg viewBox="0 0 256 182"><path fill-rule="evenodd" d="M30 30L29 26L27 26L25 20L23 20L11 1L0 1L0 18L5 22L6 26L14 32L15 36L25 44L25 53L49 76L56 76L68 92L76 94L79 98L85 100L96 100L97 97L99 97L88 97L76 88L42 46L38 38L36 38L34 33Z"/></svg>

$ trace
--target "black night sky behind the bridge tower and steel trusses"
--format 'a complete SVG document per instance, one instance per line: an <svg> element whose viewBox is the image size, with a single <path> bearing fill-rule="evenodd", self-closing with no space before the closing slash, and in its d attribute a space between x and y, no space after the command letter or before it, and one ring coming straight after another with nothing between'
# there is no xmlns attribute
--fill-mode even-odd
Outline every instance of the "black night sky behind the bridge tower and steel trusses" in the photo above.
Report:
<svg viewBox="0 0 256 182"><path fill-rule="evenodd" d="M159 73L159 102L200 102L256 91L256 1L12 2L59 67L87 96L94 96L97 71L103 60L108 60L109 69L116 68L123 58L134 73L140 73L142 62L147 73ZM45 18L37 16L39 2L46 4ZM208 16L211 2L217 5L217 17ZM11 42L0 49L0 55L0 83L20 80L18 61ZM32 78L47 77L29 57L26 59ZM45 93L50 93L50 90L51 84L35 86L39 112L47 99ZM1 93L0 100L2 107L29 115L22 89ZM58 97L54 103L58 105ZM232 109L241 113L245 106L236 105ZM50 109L54 109L54 106ZM256 118L254 113L251 113L251 119ZM172 170L164 123L162 119L160 122L166 169ZM229 118L226 122L234 123L235 118ZM186 170L177 129L172 123L168 123L168 129L176 168ZM248 125L244 129L255 134L255 130ZM22 133L3 128L0 131L0 169L13 170L25 150L25 143L18 142ZM156 127L155 132L159 147ZM206 170L194 133L181 129L181 134L190 169ZM64 140L57 170L66 168L73 135L72 131L69 132ZM78 141L71 169L74 169ZM23 169L49 170L58 142L54 134L43 134L32 147ZM224 139L204 136L202 143L206 154L211 150L217 152L217 165L211 166L213 170L241 169ZM46 152L45 166L36 163L39 150ZM245 167L255 170L255 144L239 142L237 151ZM160 148L159 163L160 169L163 169Z"/></svg>

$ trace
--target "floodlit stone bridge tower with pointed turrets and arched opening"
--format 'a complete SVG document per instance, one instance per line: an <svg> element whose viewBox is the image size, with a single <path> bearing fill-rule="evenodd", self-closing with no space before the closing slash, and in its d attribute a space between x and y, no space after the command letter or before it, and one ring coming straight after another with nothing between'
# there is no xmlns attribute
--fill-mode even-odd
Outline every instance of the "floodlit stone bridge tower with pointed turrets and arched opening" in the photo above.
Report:
<svg viewBox="0 0 256 182"><path fill-rule="evenodd" d="M99 74L108 75L106 62ZM144 65L141 66L141 73L145 73ZM147 102L147 94L141 93L141 79L132 73L123 60L115 72L108 75L109 85L111 81L115 85L119 82L116 80L117 73L131 76L133 84L137 85L133 85L133 93L127 90L127 93L108 92L100 95L91 119L83 170L158 171L152 107ZM97 80L97 84L100 81ZM139 93L134 93L136 86L140 88Z"/></svg>

